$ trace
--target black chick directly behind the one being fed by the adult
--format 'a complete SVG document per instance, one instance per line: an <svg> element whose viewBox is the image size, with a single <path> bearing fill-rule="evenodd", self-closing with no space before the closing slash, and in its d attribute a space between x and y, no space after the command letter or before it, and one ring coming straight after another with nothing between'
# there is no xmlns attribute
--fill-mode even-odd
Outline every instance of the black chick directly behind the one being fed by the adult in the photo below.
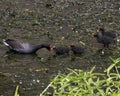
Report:
<svg viewBox="0 0 120 96"><path fill-rule="evenodd" d="M74 54L82 54L85 51L85 48L81 46L75 46L73 44L70 45L70 48Z"/></svg>

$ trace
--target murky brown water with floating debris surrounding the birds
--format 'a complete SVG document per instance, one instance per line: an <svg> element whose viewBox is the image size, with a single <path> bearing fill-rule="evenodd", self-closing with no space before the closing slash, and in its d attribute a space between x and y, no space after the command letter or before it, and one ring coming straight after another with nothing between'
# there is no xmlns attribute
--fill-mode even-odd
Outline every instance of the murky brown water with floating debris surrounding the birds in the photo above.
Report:
<svg viewBox="0 0 120 96"><path fill-rule="evenodd" d="M119 42L101 55L93 38L101 24L120 38L119 0L1 0L0 19L0 96L13 96L17 85L20 96L39 96L58 72L93 66L101 72L111 64L109 57L120 56ZM3 38L59 46L84 44L86 52L53 56L54 52L42 49L36 55L14 54L7 52Z"/></svg>

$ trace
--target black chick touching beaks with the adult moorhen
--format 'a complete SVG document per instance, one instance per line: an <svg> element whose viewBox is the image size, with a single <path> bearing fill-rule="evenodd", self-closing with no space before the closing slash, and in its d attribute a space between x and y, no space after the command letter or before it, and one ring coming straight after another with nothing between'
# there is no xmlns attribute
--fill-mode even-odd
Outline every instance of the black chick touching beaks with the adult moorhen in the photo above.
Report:
<svg viewBox="0 0 120 96"><path fill-rule="evenodd" d="M51 49L53 49L57 55L68 54L70 51L70 49L65 46L59 46L59 47L52 46Z"/></svg>

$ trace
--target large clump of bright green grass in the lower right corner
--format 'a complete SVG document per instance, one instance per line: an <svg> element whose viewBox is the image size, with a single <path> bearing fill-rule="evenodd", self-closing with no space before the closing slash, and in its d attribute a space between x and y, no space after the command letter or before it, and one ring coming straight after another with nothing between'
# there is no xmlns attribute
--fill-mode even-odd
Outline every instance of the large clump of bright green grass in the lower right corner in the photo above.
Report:
<svg viewBox="0 0 120 96"><path fill-rule="evenodd" d="M68 69L68 74L59 73L40 96L120 96L120 58L112 61L103 73L95 73L95 67L88 72Z"/></svg>

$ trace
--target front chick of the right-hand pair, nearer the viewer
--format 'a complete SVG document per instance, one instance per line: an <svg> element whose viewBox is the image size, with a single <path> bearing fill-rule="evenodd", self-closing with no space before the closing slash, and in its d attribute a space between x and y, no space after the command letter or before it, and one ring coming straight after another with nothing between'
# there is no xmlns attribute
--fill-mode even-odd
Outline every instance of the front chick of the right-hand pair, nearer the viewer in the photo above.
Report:
<svg viewBox="0 0 120 96"><path fill-rule="evenodd" d="M113 38L99 33L95 34L94 37L96 37L98 43L103 44L104 47L109 47L109 44L113 42Z"/></svg>

